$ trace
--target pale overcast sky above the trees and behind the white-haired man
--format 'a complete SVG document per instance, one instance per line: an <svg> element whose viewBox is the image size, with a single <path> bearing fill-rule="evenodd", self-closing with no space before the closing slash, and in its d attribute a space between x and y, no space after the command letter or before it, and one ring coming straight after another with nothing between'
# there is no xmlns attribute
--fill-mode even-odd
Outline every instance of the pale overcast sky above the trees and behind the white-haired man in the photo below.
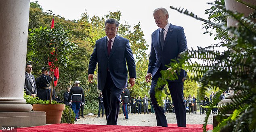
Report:
<svg viewBox="0 0 256 132"><path fill-rule="evenodd" d="M181 7L201 18L207 18L204 12L212 5L206 3L214 0L30 0L30 2L35 1L38 1L44 11L52 10L55 15L60 15L66 20L78 20L83 12L87 12L90 17L93 15L101 17L109 12L120 10L122 14L120 23L126 21L131 26L141 23L149 49L151 33L158 28L153 19L153 10L164 7L169 12L168 21L171 24L183 26L189 49L191 47L197 49L197 46L206 47L216 42L208 34L203 35L205 32L201 29L203 22L170 9L170 6Z"/></svg>

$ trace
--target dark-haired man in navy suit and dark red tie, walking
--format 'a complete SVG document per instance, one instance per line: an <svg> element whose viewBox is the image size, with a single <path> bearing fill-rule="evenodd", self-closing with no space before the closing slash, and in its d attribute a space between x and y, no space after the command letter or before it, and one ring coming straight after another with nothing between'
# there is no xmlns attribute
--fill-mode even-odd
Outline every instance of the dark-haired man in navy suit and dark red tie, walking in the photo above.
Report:
<svg viewBox="0 0 256 132"><path fill-rule="evenodd" d="M98 89L102 91L107 125L117 125L120 97L129 83L136 79L135 61L129 40L117 35L119 22L113 18L105 21L106 37L96 41L88 67L88 81L92 83L98 63ZM128 70L126 67L128 66Z"/></svg>

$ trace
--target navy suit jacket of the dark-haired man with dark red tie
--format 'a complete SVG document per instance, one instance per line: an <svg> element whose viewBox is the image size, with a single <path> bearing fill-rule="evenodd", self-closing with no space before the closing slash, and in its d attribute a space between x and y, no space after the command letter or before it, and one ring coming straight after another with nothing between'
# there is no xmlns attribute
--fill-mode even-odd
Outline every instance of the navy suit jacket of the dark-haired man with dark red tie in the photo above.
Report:
<svg viewBox="0 0 256 132"><path fill-rule="evenodd" d="M128 71L130 78L136 78L135 62L129 40L120 36L115 37L110 55L107 53L107 37L96 41L95 48L90 57L88 74L93 74L98 63L98 89L103 90L107 69L116 87L123 89L127 86Z"/></svg>

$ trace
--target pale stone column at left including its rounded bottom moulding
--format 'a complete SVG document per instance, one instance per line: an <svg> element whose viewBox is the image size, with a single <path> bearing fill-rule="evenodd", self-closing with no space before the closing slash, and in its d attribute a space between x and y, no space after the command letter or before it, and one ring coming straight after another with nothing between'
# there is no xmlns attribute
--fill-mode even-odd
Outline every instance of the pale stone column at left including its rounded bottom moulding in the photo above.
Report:
<svg viewBox="0 0 256 132"><path fill-rule="evenodd" d="M23 98L29 0L0 1L0 112L28 112Z"/></svg>

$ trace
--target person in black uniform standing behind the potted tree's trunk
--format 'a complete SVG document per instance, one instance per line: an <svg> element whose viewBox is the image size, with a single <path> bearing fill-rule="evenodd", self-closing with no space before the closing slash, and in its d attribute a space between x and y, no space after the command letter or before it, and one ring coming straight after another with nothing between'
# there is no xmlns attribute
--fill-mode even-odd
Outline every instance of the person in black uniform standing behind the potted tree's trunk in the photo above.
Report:
<svg viewBox="0 0 256 132"><path fill-rule="evenodd" d="M53 78L54 81L57 80L56 77ZM37 85L37 96L40 100L50 100L50 82L52 81L52 77L48 76L47 68L42 68L42 75L36 78ZM56 96L55 89L52 92L52 100L56 100L58 96Z"/></svg>

